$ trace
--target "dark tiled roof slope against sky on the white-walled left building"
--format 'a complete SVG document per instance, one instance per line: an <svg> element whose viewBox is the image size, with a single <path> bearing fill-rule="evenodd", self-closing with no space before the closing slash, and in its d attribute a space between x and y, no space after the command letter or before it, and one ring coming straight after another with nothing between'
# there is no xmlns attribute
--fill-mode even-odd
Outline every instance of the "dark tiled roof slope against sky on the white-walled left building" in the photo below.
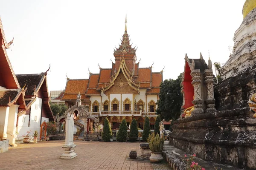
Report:
<svg viewBox="0 0 256 170"><path fill-rule="evenodd" d="M25 85L28 87L25 92L26 95L33 95L35 88L41 82L41 79L44 77L44 73L42 74L17 74L16 75L18 82L20 83L20 87L24 87Z"/></svg>

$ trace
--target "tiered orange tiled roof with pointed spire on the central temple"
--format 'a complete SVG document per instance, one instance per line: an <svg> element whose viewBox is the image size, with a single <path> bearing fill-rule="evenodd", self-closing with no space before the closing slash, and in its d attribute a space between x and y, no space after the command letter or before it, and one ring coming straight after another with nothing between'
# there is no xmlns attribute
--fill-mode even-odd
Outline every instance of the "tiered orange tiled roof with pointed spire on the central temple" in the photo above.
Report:
<svg viewBox="0 0 256 170"><path fill-rule="evenodd" d="M91 74L89 79L68 80L64 96L62 99L76 99L76 95L80 94L84 98L90 98L92 95L100 95L101 92L108 91L119 73L122 73L127 79L128 85L135 91L140 93L140 88L147 89L147 94L158 94L160 91L160 83L163 81L163 72L152 73L152 66L149 68L139 68L136 63L136 49L132 48L127 33L125 19L125 33L122 36L121 45L114 50L115 63L112 62L111 68L100 68L99 74ZM72 81L72 82L71 82ZM87 81L87 82L85 82ZM83 87L81 87L83 86Z"/></svg>

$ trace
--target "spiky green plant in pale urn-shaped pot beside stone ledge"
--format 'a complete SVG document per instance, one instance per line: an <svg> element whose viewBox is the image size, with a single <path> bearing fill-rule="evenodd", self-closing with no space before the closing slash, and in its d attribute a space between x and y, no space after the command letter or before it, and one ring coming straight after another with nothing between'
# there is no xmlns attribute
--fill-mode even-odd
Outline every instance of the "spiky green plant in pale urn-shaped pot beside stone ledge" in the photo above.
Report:
<svg viewBox="0 0 256 170"><path fill-rule="evenodd" d="M152 133L148 136L147 142L151 150L150 161L157 163L163 160L163 147L164 138L163 135L160 137L158 134Z"/></svg>

